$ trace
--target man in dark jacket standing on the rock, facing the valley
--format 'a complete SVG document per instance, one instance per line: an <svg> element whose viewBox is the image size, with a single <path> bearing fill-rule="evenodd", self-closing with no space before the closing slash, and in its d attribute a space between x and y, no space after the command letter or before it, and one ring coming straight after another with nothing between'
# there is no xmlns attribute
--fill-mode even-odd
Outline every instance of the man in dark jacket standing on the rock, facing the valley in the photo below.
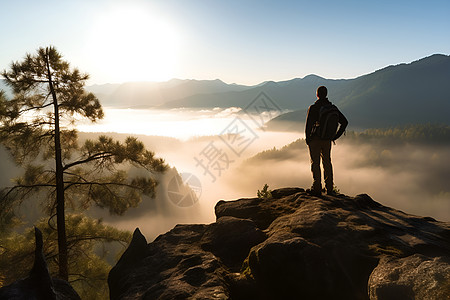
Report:
<svg viewBox="0 0 450 300"><path fill-rule="evenodd" d="M337 122L339 123L339 130L334 131L331 136L323 137L319 134L320 117L324 107L332 106L331 102L327 98L328 90L325 86L320 86L317 89L317 100L308 108L308 114L306 117L305 137L306 144L309 148L309 154L311 156L311 172L313 174L313 184L311 187L311 193L314 195L321 195L322 193L322 179L320 172L320 158L323 160L323 171L325 179L325 187L328 195L333 195L333 166L331 164L331 142L338 139L345 131L348 125L348 121L345 116L336 108ZM321 113L322 109L322 113ZM322 120L322 123L325 123ZM337 124L336 124L337 126ZM320 129L319 129L320 128Z"/></svg>

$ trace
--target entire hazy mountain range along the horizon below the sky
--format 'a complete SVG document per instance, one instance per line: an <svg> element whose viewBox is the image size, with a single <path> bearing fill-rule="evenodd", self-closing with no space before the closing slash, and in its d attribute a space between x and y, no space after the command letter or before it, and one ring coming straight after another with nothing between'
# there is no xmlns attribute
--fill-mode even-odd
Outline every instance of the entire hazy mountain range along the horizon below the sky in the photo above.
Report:
<svg viewBox="0 0 450 300"><path fill-rule="evenodd" d="M88 86L105 107L121 108L245 108L264 93L282 111L270 121L273 130L298 129L318 86L325 85L357 128L417 123L449 124L450 56L434 54L411 63L391 65L354 79L326 79L317 75L255 86L216 80L133 82ZM4 83L0 81L0 89Z"/></svg>

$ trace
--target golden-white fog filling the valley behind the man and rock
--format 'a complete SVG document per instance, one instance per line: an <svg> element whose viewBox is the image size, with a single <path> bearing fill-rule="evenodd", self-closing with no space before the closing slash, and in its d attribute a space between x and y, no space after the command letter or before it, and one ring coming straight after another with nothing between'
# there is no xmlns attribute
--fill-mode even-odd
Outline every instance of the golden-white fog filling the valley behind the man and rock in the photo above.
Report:
<svg viewBox="0 0 450 300"><path fill-rule="evenodd" d="M311 185L308 149L299 140L303 128L300 132L265 132L257 129L254 116L239 109L105 109L105 114L101 123L83 124L79 130L119 132L111 134L117 139L135 133L173 168L160 178L155 199L144 199L124 216L91 211L119 228L139 227L149 241L176 224L213 222L219 200L256 197L266 183L270 189ZM264 150L271 151L255 157ZM355 143L343 137L332 150L335 184L346 195L367 193L407 213L449 221L449 150L448 144ZM198 199L189 196L192 191L178 190L176 171L188 180Z"/></svg>

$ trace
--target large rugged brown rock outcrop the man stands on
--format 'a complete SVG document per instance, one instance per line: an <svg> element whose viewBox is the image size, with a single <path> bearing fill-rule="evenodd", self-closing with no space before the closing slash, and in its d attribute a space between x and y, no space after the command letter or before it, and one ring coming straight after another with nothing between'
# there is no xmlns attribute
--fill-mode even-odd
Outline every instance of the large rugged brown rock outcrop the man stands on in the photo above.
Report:
<svg viewBox="0 0 450 300"><path fill-rule="evenodd" d="M368 195L219 201L217 221L135 231L111 299L449 299L450 224Z"/></svg>

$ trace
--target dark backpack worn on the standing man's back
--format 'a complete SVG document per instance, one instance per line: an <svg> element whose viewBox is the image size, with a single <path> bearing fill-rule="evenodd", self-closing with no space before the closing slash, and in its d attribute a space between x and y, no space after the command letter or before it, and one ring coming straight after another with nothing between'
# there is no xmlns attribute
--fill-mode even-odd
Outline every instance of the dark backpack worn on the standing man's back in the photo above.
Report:
<svg viewBox="0 0 450 300"><path fill-rule="evenodd" d="M339 109L326 104L320 108L319 121L314 124L312 135L322 140L333 140L339 127Z"/></svg>

